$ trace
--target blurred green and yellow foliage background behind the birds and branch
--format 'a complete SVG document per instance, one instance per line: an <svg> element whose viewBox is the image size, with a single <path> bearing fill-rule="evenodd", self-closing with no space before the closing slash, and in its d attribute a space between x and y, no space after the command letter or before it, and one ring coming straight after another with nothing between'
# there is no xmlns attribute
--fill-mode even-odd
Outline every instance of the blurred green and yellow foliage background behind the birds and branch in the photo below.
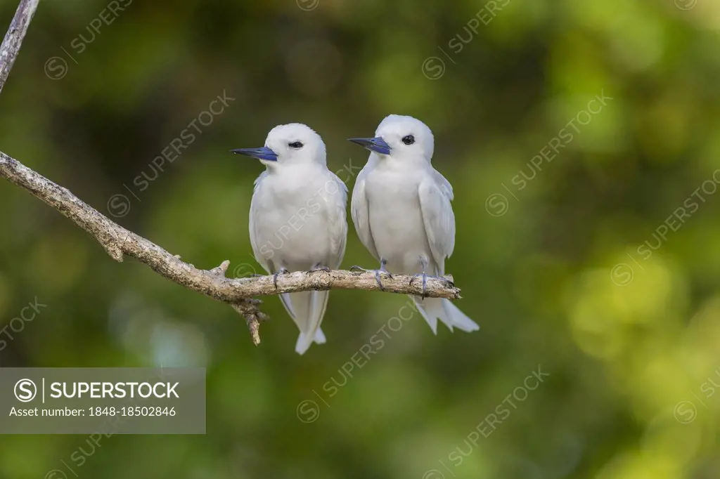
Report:
<svg viewBox="0 0 720 479"><path fill-rule="evenodd" d="M16 6L1 1L3 32ZM295 354L270 297L254 347L228 306L115 263L0 182L0 326L47 305L1 366L208 378L206 435L4 436L0 477L75 477L63 461L109 479L720 477L719 32L716 0L41 0L0 150L199 268L248 275L262 167L230 148L306 123L352 188L366 152L345 139L413 115L454 185L446 270L482 329L398 328L404 296L333 291L328 344ZM375 266L351 228L354 264Z"/></svg>

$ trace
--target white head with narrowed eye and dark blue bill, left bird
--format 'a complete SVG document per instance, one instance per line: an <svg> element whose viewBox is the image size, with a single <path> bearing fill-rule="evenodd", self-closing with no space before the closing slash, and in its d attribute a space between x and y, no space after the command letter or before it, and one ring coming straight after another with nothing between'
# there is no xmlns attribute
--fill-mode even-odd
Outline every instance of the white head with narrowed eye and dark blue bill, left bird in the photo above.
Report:
<svg viewBox="0 0 720 479"><path fill-rule="evenodd" d="M320 135L302 123L281 124L270 130L265 146L230 150L257 158L271 168L289 163L326 163L325 143Z"/></svg>

